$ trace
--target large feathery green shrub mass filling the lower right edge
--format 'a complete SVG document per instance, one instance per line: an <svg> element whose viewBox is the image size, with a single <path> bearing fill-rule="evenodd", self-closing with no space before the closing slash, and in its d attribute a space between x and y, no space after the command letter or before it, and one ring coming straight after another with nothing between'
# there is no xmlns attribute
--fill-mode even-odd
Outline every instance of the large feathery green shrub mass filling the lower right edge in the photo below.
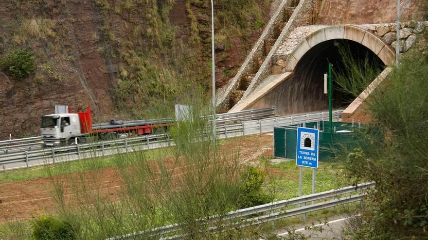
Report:
<svg viewBox="0 0 428 240"><path fill-rule="evenodd" d="M427 56L410 52L366 101L385 137L368 131L344 151L350 177L376 181L354 239L428 237L427 75Z"/></svg>

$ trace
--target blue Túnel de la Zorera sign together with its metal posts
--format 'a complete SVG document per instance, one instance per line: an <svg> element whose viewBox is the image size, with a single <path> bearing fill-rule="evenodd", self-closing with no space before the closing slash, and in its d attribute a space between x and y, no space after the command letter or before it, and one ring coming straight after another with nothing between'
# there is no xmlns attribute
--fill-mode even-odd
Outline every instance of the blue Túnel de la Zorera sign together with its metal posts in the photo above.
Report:
<svg viewBox="0 0 428 240"><path fill-rule="evenodd" d="M316 128L297 128L296 165L299 169L299 196L303 195L303 167L312 168L312 193L315 193L315 170L318 168L319 130ZM306 221L306 214L303 214Z"/></svg>

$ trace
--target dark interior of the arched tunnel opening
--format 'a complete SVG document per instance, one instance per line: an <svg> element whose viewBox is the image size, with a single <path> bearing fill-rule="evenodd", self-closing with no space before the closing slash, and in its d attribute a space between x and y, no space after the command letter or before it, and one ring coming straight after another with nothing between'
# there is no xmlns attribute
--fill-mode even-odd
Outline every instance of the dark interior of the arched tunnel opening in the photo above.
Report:
<svg viewBox="0 0 428 240"><path fill-rule="evenodd" d="M340 48L349 49L343 58ZM353 60L348 59L353 58ZM360 62L366 61L370 67L379 69L379 73L385 68L382 60L369 48L346 39L335 39L322 42L309 49L296 65L293 76L286 80L283 89L285 97L283 106L287 113L311 112L328 109L328 95L324 94L324 73L328 71L328 64L333 64L333 71L341 71L345 79L347 71L344 61ZM345 71L343 71L345 70ZM366 69L360 69L365 71ZM334 76L334 74L333 74ZM370 79L369 81L373 81ZM356 97L341 91L341 87L333 78L333 108L344 108Z"/></svg>

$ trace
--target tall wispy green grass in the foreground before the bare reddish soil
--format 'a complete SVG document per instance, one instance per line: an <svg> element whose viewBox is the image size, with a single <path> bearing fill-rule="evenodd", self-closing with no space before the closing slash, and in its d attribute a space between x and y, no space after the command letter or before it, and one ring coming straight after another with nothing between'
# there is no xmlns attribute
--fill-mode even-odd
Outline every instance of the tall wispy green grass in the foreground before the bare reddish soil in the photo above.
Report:
<svg viewBox="0 0 428 240"><path fill-rule="evenodd" d="M243 236L239 229L222 230L230 221L224 214L249 201L242 196L247 173L241 172L238 150L221 152L210 118L199 117L213 112L207 100L197 90L181 97L181 103L191 106L191 121L169 126L174 146L157 155L147 151L117 154L112 158L113 168L85 160L80 163L85 171L77 173L69 164L48 167L58 218L71 224L77 239L107 239L133 232L140 232L136 239L158 239L150 230L174 223L181 224L179 234L184 239ZM166 106L159 106L156 114L174 115ZM112 176L117 180L109 182ZM199 221L212 215L218 217Z"/></svg>

